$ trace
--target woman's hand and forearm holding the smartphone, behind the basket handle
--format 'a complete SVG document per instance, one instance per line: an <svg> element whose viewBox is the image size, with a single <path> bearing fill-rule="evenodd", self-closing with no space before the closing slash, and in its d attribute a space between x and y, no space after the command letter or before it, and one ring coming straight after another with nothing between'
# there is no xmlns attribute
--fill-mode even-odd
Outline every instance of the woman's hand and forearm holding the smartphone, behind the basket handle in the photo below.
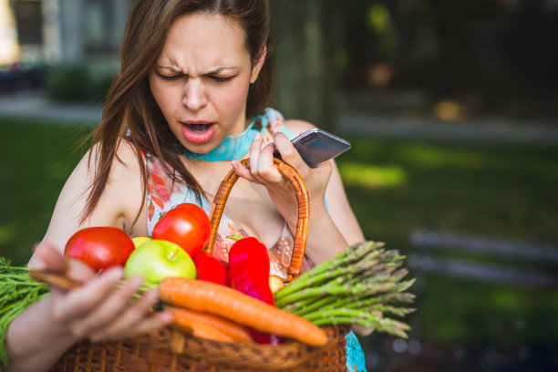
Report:
<svg viewBox="0 0 558 372"><path fill-rule="evenodd" d="M233 170L239 177L265 186L293 235L296 233L298 222L298 205L293 185L274 167L275 148L281 153L284 162L300 174L305 181L312 214L308 222L305 255L313 263L324 263L343 252L348 245L347 241L356 243L364 240L355 215L346 200L334 160L325 161L316 168L308 167L283 133L275 133L274 143L263 149L262 143L262 136L256 135L250 149L249 170L238 160L232 161ZM325 208L326 191L328 209Z"/></svg>

